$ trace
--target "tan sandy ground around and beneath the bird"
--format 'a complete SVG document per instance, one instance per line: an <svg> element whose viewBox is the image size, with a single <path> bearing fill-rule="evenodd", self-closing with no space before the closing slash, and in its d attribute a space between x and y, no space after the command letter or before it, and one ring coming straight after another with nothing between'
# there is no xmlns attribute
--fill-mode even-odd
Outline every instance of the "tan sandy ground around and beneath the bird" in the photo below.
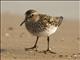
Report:
<svg viewBox="0 0 80 60"><path fill-rule="evenodd" d="M31 47L36 37L31 35L20 23L24 17L3 13L1 16L1 60L79 60L80 32L78 20L65 20L59 29L50 37L50 48L56 54L44 54L25 51ZM46 37L41 37L37 44L38 50L46 50Z"/></svg>

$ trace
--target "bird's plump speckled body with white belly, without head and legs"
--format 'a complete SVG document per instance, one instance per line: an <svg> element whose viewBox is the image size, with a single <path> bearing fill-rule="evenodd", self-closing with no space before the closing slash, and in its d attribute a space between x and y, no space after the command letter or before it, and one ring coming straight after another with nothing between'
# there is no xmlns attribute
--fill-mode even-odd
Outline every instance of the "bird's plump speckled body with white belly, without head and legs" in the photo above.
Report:
<svg viewBox="0 0 80 60"><path fill-rule="evenodd" d="M33 35L51 35L60 26L62 19L52 17L46 14L39 14L40 19L37 22L26 22L26 28Z"/></svg>

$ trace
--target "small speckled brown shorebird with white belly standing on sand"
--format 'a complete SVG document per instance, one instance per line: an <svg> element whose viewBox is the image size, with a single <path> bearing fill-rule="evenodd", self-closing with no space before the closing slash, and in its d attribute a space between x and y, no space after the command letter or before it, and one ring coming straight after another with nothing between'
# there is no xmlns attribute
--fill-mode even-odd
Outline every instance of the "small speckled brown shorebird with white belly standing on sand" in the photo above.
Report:
<svg viewBox="0 0 80 60"><path fill-rule="evenodd" d="M27 30L31 34L37 36L37 39L33 47L25 48L25 50L27 51L27 50L37 48L36 44L38 42L39 37L46 36L48 47L47 47L47 50L44 51L44 53L46 52L55 53L55 52L52 52L49 48L49 36L52 35L57 30L57 28L61 25L62 21L63 21L62 16L53 17L46 14L41 14L38 11L33 9L26 11L25 19L20 24L20 26L22 26L23 23L25 23L25 27L27 28Z"/></svg>

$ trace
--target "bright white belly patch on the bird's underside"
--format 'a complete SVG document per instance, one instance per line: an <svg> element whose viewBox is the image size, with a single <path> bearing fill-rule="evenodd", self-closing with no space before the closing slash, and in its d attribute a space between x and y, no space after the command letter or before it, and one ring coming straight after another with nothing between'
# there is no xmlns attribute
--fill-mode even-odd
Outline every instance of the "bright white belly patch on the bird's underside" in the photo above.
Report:
<svg viewBox="0 0 80 60"><path fill-rule="evenodd" d="M47 28L44 32L41 32L39 34L39 36L50 36L50 35L52 35L53 33L56 32L57 28L58 27L51 26L51 27Z"/></svg>

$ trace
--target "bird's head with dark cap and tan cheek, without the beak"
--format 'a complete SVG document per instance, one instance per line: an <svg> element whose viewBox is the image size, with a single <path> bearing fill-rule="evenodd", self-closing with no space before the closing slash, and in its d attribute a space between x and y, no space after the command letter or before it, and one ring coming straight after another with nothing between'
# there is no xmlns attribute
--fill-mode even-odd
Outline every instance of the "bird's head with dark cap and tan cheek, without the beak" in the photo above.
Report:
<svg viewBox="0 0 80 60"><path fill-rule="evenodd" d="M39 20L39 13L36 10L30 9L25 13L25 20L37 22Z"/></svg>

